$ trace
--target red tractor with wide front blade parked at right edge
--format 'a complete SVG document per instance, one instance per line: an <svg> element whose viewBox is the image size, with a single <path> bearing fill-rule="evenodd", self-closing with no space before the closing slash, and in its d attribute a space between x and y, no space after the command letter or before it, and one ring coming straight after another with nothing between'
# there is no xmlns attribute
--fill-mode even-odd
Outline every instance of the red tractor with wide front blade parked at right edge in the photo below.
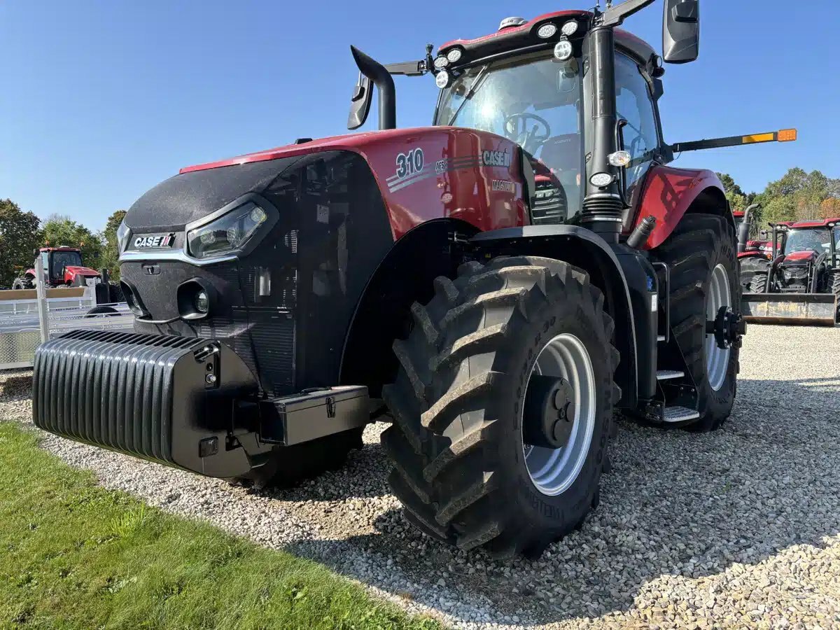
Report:
<svg viewBox="0 0 840 630"><path fill-rule="evenodd" d="M750 321L840 322L840 218L771 223L772 252L753 263L744 311ZM744 267L742 265L742 284Z"/></svg>

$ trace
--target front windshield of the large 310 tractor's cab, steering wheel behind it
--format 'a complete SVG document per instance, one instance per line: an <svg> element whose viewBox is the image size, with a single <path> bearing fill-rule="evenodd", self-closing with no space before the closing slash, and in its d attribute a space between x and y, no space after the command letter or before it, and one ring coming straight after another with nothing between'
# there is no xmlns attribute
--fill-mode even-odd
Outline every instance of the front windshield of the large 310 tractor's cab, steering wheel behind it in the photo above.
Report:
<svg viewBox="0 0 840 630"><path fill-rule="evenodd" d="M481 129L519 144L537 176L562 184L569 207L580 207L584 171L583 81L580 60L552 51L467 68L444 89L434 123Z"/></svg>

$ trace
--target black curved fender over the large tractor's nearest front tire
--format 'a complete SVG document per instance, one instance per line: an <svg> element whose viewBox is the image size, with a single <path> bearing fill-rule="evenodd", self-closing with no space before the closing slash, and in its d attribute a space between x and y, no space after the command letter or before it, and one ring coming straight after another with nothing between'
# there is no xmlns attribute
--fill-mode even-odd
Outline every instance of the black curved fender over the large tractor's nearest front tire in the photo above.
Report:
<svg viewBox="0 0 840 630"><path fill-rule="evenodd" d="M614 344L621 353L616 382L619 403L636 408L653 395L656 374L656 326L643 294L657 291L653 267L638 253L611 247L599 236L574 225L533 225L481 232L470 244L482 255L535 255L563 260L587 271L604 293L606 311L616 323ZM638 297L637 297L638 296ZM643 303L644 302L644 303Z"/></svg>

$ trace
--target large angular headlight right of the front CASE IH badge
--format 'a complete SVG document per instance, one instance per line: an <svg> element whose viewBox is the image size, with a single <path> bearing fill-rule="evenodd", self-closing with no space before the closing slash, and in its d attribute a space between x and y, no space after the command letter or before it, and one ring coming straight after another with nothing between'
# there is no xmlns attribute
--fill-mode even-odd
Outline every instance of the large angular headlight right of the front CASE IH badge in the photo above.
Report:
<svg viewBox="0 0 840 630"><path fill-rule="evenodd" d="M213 258L244 249L265 223L268 214L254 202L186 233L186 247L195 258Z"/></svg>

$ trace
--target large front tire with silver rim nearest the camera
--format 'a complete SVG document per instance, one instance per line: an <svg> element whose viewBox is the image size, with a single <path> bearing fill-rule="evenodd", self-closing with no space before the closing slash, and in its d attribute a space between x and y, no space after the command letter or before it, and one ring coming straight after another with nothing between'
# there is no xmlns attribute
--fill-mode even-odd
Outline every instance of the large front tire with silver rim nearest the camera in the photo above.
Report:
<svg viewBox="0 0 840 630"><path fill-rule="evenodd" d="M412 306L383 390L394 424L382 433L389 482L407 520L460 549L534 557L584 521L607 462L619 354L604 297L558 260L497 258L439 277ZM576 412L564 447L526 444L533 375L564 376ZM560 417L564 417L562 414Z"/></svg>

